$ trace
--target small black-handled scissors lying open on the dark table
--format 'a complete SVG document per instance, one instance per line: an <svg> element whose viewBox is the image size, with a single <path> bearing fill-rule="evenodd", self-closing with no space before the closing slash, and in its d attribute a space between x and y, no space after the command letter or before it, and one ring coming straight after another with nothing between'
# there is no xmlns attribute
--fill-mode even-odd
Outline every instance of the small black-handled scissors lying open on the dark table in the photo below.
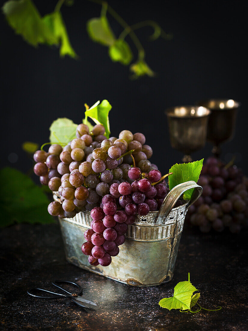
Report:
<svg viewBox="0 0 248 331"><path fill-rule="evenodd" d="M77 292L69 292L69 291L65 290L63 287L60 286L61 283L74 285L78 288L78 291ZM32 288L30 290L27 290L27 293L29 295L31 295L32 297L37 298L37 299L63 299L63 298L68 298L71 301L73 301L76 305L78 305L80 307L84 307L84 308L92 308L92 307L89 307L88 305L97 306L97 304L95 302L86 300L86 299L84 299L83 297L81 297L79 295L79 294L82 293L82 287L77 283L69 282L68 280L55 280L54 282L52 282L52 284L54 286L58 287L59 289L61 289L63 292L67 293L67 295L47 291L47 290L40 289L40 288ZM46 292L46 293L50 293L50 294L53 294L53 295L38 296L38 295L33 294L34 291Z"/></svg>

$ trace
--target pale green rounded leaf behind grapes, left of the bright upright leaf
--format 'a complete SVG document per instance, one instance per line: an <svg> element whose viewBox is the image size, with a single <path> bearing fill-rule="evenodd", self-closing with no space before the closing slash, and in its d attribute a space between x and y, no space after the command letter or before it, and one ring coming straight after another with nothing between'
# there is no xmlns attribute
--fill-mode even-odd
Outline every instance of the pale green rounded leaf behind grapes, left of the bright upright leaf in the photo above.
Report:
<svg viewBox="0 0 248 331"><path fill-rule="evenodd" d="M50 142L67 144L72 139L76 138L77 124L69 118L57 118L50 126Z"/></svg>

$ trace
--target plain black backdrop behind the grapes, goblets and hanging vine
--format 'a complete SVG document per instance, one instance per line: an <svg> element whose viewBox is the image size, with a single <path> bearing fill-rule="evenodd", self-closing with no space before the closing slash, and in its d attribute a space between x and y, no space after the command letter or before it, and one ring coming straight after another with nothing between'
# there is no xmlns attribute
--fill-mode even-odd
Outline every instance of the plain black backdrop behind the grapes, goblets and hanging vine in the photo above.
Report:
<svg viewBox="0 0 248 331"><path fill-rule="evenodd" d="M56 1L38 1L42 15L53 11ZM147 41L152 29L137 34L146 50L155 78L129 79L129 69L112 63L107 48L94 43L86 32L86 21L100 15L101 7L88 1L62 6L62 15L79 60L59 58L47 46L28 45L1 20L1 133L2 165L26 171L31 163L21 150L24 141L40 145L49 141L49 126L58 117L80 123L86 102L107 99L112 105L110 128L113 136L123 129L143 132L154 151L151 161L166 172L180 162L182 154L169 143L164 110L170 106L194 104L207 98L240 101L234 139L223 146L223 159L236 155L245 167L247 155L246 18L238 1L109 1L129 23L151 19L167 32L171 41ZM114 33L122 28L108 16ZM129 38L127 41L133 44ZM136 55L135 47L133 51ZM207 144L193 158L207 157ZM10 153L18 155L11 163Z"/></svg>

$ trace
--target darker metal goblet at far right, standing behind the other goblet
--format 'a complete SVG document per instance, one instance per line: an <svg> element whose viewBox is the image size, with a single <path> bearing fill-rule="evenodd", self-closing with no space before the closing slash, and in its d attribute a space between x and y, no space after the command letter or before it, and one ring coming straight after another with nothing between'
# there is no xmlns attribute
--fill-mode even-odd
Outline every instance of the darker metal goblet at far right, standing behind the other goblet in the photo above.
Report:
<svg viewBox="0 0 248 331"><path fill-rule="evenodd" d="M213 99L199 101L197 105L207 107L211 110L208 121L207 140L214 145L212 149L213 154L219 157L221 153L220 144L233 138L237 109L240 103L232 99Z"/></svg>

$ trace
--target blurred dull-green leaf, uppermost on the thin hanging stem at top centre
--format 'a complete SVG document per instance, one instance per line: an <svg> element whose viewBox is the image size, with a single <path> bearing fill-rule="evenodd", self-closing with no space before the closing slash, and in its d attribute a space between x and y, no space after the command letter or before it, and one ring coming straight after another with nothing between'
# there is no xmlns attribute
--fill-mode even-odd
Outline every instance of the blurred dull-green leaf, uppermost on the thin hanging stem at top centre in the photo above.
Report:
<svg viewBox="0 0 248 331"><path fill-rule="evenodd" d="M105 16L90 19L86 24L89 37L104 46L111 46L115 36Z"/></svg>

